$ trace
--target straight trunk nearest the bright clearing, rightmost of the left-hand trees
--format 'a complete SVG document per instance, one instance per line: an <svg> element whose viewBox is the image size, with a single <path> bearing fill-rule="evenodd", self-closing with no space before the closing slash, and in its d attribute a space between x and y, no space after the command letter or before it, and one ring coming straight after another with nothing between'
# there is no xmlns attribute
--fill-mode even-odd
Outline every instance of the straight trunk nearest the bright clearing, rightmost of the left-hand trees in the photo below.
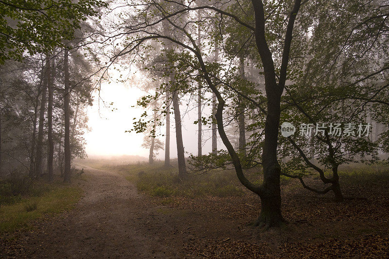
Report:
<svg viewBox="0 0 389 259"><path fill-rule="evenodd" d="M64 182L70 183L71 181L71 151L70 151L70 83L69 83L69 51L65 48L64 54L64 117L65 117L65 140L64 140L64 153L65 153L65 172Z"/></svg>

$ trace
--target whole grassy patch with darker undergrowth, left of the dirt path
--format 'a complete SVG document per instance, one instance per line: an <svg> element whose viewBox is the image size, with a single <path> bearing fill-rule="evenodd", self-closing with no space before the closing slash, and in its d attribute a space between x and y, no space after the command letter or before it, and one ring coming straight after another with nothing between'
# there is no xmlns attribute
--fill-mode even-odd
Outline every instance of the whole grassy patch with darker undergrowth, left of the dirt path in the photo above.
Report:
<svg viewBox="0 0 389 259"><path fill-rule="evenodd" d="M80 188L62 181L52 184L20 181L0 182L0 234L29 228L35 220L69 210L82 195Z"/></svg>

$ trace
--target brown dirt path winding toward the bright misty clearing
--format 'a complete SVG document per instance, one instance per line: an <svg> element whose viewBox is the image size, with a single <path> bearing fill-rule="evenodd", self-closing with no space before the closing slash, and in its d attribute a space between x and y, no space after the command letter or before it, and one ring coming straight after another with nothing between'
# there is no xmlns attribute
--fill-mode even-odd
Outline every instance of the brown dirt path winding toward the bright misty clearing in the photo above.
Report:
<svg viewBox="0 0 389 259"><path fill-rule="evenodd" d="M182 243L165 235L167 215L122 175L79 165L87 181L76 209L38 223L18 237L18 255L53 258L182 257ZM81 168L80 168L81 169ZM165 228L161 231L160 228ZM179 247L181 246L181 247ZM177 252L178 251L178 252Z"/></svg>

